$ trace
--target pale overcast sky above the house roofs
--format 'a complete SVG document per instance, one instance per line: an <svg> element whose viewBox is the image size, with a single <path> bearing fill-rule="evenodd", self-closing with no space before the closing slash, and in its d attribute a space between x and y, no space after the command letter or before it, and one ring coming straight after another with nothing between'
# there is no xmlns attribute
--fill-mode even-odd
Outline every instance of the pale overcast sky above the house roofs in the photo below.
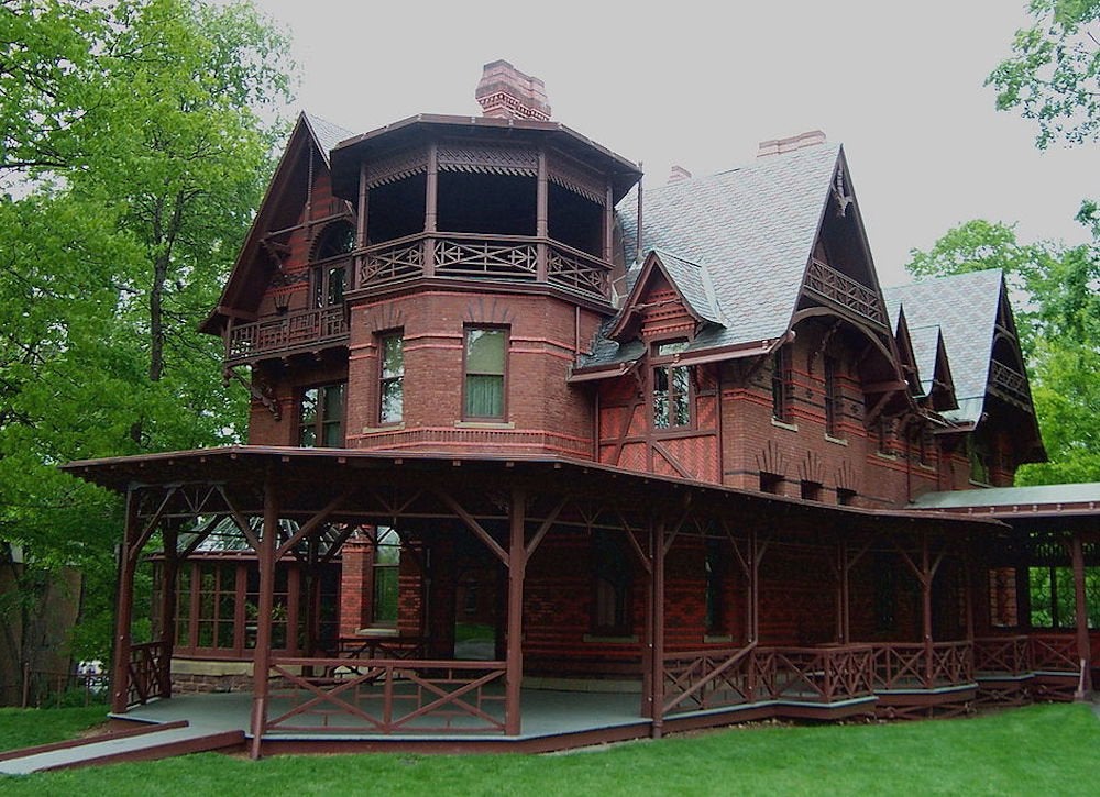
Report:
<svg viewBox="0 0 1100 797"><path fill-rule="evenodd" d="M982 86L1024 0L255 2L294 38L293 110L356 133L480 113L474 87L497 58L546 81L556 121L642 162L647 186L824 130L845 145L883 285L969 219L1079 243L1072 217L1100 195L1100 148L1038 152Z"/></svg>

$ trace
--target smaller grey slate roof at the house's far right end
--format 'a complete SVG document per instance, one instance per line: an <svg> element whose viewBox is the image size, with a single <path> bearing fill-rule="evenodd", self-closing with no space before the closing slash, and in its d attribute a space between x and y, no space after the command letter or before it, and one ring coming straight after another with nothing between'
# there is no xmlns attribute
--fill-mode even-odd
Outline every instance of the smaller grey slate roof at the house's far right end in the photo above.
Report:
<svg viewBox="0 0 1100 797"><path fill-rule="evenodd" d="M955 396L959 403L957 410L944 412L950 420L977 423L985 410L1002 286L1001 270L993 268L923 279L883 290L887 312L894 326L899 309L904 305L910 335L914 337L914 351L917 346L915 330L939 328L950 357ZM924 383L932 378L935 361L932 361L928 370L925 370L923 361L917 363L917 368Z"/></svg>

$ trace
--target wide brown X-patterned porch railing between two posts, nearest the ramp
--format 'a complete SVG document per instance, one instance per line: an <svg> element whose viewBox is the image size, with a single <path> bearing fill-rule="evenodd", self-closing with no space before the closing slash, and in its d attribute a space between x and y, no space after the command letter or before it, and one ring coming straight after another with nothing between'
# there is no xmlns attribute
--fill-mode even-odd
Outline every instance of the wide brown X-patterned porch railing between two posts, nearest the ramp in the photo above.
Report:
<svg viewBox="0 0 1100 797"><path fill-rule="evenodd" d="M504 662L276 658L266 728L504 733Z"/></svg>

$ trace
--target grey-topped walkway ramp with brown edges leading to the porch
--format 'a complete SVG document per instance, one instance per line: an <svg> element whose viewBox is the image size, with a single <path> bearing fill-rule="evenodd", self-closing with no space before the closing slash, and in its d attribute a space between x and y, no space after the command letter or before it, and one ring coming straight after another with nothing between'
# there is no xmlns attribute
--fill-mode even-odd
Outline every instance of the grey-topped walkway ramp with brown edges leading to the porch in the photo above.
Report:
<svg viewBox="0 0 1100 797"><path fill-rule="evenodd" d="M123 761L153 761L243 745L244 731L191 727L187 720L179 720L0 753L0 774L25 775Z"/></svg>

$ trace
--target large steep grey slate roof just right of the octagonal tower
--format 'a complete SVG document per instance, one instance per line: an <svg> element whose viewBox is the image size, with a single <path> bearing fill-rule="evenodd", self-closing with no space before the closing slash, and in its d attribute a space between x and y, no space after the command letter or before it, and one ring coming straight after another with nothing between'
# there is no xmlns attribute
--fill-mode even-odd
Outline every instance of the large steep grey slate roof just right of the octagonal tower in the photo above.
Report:
<svg viewBox="0 0 1100 797"><path fill-rule="evenodd" d="M640 248L698 267L701 284L713 289L718 319L712 320L722 324L710 345L787 332L840 155L839 145L821 144L645 190ZM637 195L618 207L623 240L632 248ZM680 288L685 298L694 290Z"/></svg>

